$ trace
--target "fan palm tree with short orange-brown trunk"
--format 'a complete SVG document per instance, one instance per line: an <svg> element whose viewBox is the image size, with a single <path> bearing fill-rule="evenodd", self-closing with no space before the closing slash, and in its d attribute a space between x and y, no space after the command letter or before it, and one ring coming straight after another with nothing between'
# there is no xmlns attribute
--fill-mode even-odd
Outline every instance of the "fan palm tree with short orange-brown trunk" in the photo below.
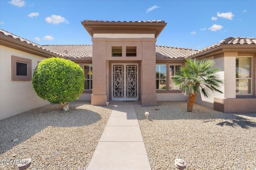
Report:
<svg viewBox="0 0 256 170"><path fill-rule="evenodd" d="M206 98L210 97L210 91L222 93L218 88L224 81L220 80L217 74L220 68L215 68L214 65L213 60L187 59L185 66L172 77L182 94L188 96L187 111L192 112L198 92Z"/></svg>

